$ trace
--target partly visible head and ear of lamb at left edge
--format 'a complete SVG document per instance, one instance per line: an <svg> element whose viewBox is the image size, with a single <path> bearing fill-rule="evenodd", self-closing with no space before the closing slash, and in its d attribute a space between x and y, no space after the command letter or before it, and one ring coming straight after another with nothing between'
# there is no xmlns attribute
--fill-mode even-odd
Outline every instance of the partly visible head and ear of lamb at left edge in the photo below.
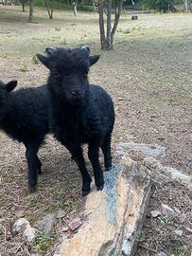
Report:
<svg viewBox="0 0 192 256"><path fill-rule="evenodd" d="M8 83L0 81L0 120L4 118L9 92L11 92L16 85L17 81L10 81Z"/></svg>

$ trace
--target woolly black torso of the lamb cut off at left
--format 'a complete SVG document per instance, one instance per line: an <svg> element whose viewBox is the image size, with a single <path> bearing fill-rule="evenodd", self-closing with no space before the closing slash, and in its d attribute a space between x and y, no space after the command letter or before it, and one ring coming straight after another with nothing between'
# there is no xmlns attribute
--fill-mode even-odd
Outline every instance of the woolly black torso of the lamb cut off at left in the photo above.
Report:
<svg viewBox="0 0 192 256"><path fill-rule="evenodd" d="M8 117L3 129L12 138L27 139L44 137L48 132L48 92L45 85L22 88L9 94Z"/></svg>

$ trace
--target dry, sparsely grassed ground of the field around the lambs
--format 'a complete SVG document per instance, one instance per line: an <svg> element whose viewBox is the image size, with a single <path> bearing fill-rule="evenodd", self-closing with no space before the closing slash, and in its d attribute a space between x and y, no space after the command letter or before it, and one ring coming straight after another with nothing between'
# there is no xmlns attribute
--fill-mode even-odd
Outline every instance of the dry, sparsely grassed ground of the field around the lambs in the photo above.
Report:
<svg viewBox="0 0 192 256"><path fill-rule="evenodd" d="M33 24L21 8L0 7L0 80L17 79L18 87L46 81L47 70L36 64L34 55L46 46L88 45L101 55L92 68L90 81L102 84L113 96L116 121L113 152L119 141L163 145L161 162L191 174L192 163L192 16L190 14L122 16L114 49L101 52L97 14L55 11L48 20L36 9ZM25 148L0 134L0 255L29 255L31 247L11 234L13 222L21 215L33 224L46 213L64 209L77 215L83 199L79 196L79 171L70 155L52 137L40 151L44 174L33 194L26 187ZM190 256L192 237L192 194L179 184L166 182L158 174L152 179L148 212L160 210L161 203L177 207L185 220L147 218L137 255ZM33 251L52 255L60 237L62 222L50 239L36 241ZM174 240L173 229L183 236Z"/></svg>

